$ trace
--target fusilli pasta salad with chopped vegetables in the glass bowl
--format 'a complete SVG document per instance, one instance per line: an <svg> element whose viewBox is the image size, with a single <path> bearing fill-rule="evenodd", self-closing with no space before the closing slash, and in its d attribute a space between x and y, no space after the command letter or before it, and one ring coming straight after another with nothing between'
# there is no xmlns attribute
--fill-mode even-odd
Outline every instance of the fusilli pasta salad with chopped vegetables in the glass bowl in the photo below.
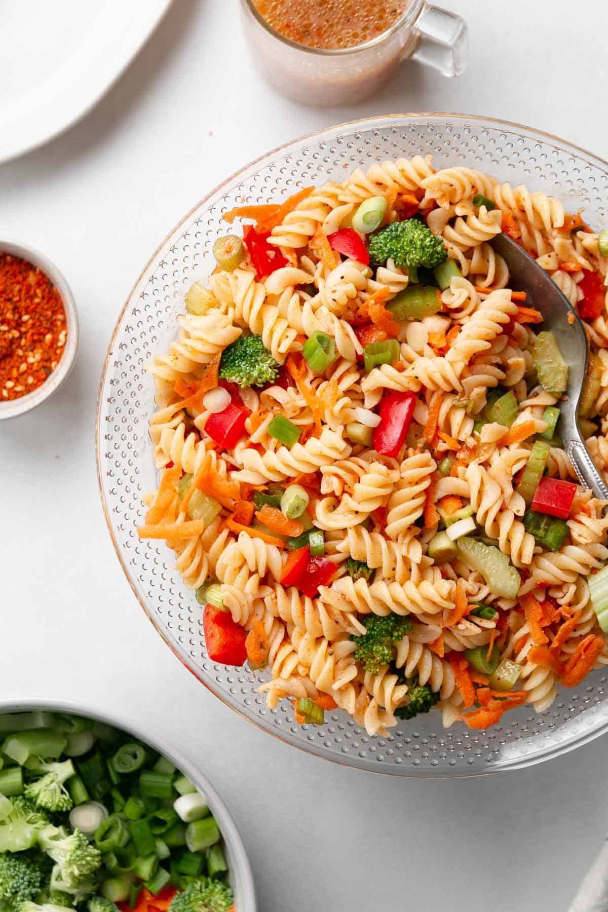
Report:
<svg viewBox="0 0 608 912"><path fill-rule="evenodd" d="M608 518L562 449L568 366L491 244L517 240L585 321L580 425L608 478L606 233L430 156L223 217L150 365L138 530L175 552L210 658L370 735L542 712L608 664Z"/></svg>

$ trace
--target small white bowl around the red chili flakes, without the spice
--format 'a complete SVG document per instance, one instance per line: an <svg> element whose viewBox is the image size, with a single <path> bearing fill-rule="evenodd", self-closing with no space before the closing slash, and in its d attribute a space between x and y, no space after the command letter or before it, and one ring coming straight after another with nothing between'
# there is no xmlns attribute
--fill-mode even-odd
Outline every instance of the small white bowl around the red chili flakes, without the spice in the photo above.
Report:
<svg viewBox="0 0 608 912"><path fill-rule="evenodd" d="M59 389L63 381L67 378L78 347L78 316L74 297L67 285L66 279L59 272L57 266L51 263L44 254L39 253L33 247L26 244L19 244L16 241L0 240L0 254L10 254L11 256L20 256L23 260L38 266L57 287L63 306L66 311L67 319L67 339L63 354L59 359L57 368L53 370L45 382L31 393L26 393L19 399L0 399L0 420L5 418L16 418L17 415L24 415L26 411L36 409L49 396L52 396L56 389Z"/></svg>

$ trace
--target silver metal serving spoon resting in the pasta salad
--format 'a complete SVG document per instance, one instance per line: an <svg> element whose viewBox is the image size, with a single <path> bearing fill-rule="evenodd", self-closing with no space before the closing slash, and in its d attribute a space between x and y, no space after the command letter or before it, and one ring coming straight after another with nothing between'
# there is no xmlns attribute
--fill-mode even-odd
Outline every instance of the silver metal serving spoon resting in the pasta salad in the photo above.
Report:
<svg viewBox="0 0 608 912"><path fill-rule="evenodd" d="M560 403L560 432L563 449L572 468L585 487L595 497L608 500L608 486L595 468L582 442L576 413L582 394L582 381L587 368L587 335L576 311L541 266L506 234L498 234L491 242L509 266L513 285L527 292L531 306L541 311L543 329L550 330L558 340L562 357L569 367L567 398ZM572 316L574 319L572 320Z"/></svg>

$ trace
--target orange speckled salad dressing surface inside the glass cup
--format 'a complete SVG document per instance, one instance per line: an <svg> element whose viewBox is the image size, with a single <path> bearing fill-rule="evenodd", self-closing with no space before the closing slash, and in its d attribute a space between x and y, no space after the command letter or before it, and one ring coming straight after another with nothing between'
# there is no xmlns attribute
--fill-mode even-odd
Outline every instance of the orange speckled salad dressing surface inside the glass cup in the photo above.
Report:
<svg viewBox="0 0 608 912"><path fill-rule="evenodd" d="M274 31L298 45L339 49L365 44L394 26L409 0L253 0Z"/></svg>

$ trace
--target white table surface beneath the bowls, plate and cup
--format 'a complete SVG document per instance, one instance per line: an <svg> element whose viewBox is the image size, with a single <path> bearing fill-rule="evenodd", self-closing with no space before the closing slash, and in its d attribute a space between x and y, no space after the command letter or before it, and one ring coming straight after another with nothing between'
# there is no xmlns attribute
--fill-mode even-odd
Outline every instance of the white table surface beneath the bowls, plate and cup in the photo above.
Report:
<svg viewBox="0 0 608 912"><path fill-rule="evenodd" d="M236 5L175 0L97 109L0 167L0 238L59 265L81 321L63 389L0 430L0 699L119 707L198 759L241 829L261 912L565 909L608 824L606 741L520 772L421 782L335 766L247 724L182 668L122 575L99 503L95 406L112 327L149 255L204 193L285 140L444 110L531 124L608 157L608 8L593 3L592 16L582 3L583 27L563 0L451 0L469 19L463 77L409 64L365 104L319 110L263 84Z"/></svg>

